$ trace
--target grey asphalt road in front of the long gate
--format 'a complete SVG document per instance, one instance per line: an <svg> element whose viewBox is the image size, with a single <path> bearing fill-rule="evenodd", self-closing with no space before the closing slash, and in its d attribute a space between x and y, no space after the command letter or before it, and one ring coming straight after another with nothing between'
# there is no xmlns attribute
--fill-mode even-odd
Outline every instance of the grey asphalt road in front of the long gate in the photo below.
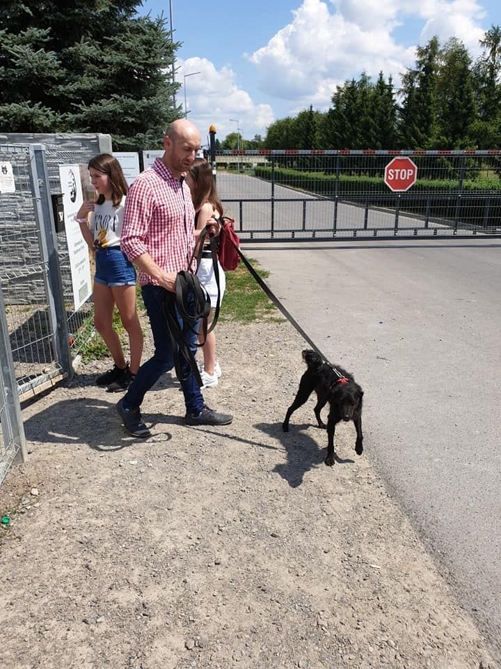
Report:
<svg viewBox="0 0 501 669"><path fill-rule="evenodd" d="M363 386L365 453L501 660L501 240L242 250Z"/></svg>

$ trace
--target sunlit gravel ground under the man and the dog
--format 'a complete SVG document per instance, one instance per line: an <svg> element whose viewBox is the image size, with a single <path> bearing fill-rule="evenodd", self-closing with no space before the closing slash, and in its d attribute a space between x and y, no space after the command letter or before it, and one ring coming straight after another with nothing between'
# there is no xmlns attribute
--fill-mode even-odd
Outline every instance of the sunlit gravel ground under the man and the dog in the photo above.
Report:
<svg viewBox="0 0 501 669"><path fill-rule="evenodd" d="M499 669L376 475L370 425L361 457L338 427L333 468L313 400L283 433L292 326L217 332L205 397L230 426L184 426L166 375L152 437L129 438L93 383L106 362L23 408L29 461L0 486L1 668Z"/></svg>

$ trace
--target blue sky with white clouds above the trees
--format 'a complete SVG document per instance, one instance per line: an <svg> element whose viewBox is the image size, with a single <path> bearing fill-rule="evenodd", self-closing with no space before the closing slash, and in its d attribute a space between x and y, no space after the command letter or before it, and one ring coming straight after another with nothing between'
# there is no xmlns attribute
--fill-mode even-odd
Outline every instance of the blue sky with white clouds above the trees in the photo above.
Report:
<svg viewBox="0 0 501 669"><path fill-rule="evenodd" d="M310 105L324 112L335 86L363 71L399 86L415 47L435 35L441 45L455 36L475 59L485 31L501 25L500 0L144 0L139 13L169 24L170 6L182 43L177 102L186 95L202 144L211 124L218 139L237 127L252 139Z"/></svg>

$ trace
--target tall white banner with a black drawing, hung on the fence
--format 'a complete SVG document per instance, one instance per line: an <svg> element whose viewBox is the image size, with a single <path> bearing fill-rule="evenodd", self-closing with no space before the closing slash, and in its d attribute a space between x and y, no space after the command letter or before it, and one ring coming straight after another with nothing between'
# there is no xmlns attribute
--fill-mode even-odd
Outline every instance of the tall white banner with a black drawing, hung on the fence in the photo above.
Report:
<svg viewBox="0 0 501 669"><path fill-rule="evenodd" d="M61 192L63 193L63 211L68 254L70 256L73 302L74 309L77 311L92 295L88 246L80 231L80 225L74 220L81 203L84 201L79 165L60 165L59 178L61 179Z"/></svg>

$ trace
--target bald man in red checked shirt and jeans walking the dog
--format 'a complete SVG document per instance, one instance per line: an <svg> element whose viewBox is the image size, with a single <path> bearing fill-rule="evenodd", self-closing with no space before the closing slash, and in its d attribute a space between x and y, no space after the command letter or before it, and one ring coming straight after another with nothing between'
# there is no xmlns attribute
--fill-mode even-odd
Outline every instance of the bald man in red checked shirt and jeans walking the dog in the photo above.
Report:
<svg viewBox="0 0 501 669"><path fill-rule="evenodd" d="M200 132L180 118L170 123L164 137L164 155L136 177L125 201L120 247L138 267L154 341L154 354L138 373L118 402L125 429L134 437L150 436L141 417L145 393L164 372L174 367L174 355L164 316L166 291L175 293L177 273L189 269L195 247L195 210L184 174L200 149ZM193 267L191 268L193 269ZM182 318L178 321L182 327ZM186 344L196 351L198 323L186 330ZM186 406L187 425L228 425L233 417L209 408L189 363L182 359L180 379Z"/></svg>

